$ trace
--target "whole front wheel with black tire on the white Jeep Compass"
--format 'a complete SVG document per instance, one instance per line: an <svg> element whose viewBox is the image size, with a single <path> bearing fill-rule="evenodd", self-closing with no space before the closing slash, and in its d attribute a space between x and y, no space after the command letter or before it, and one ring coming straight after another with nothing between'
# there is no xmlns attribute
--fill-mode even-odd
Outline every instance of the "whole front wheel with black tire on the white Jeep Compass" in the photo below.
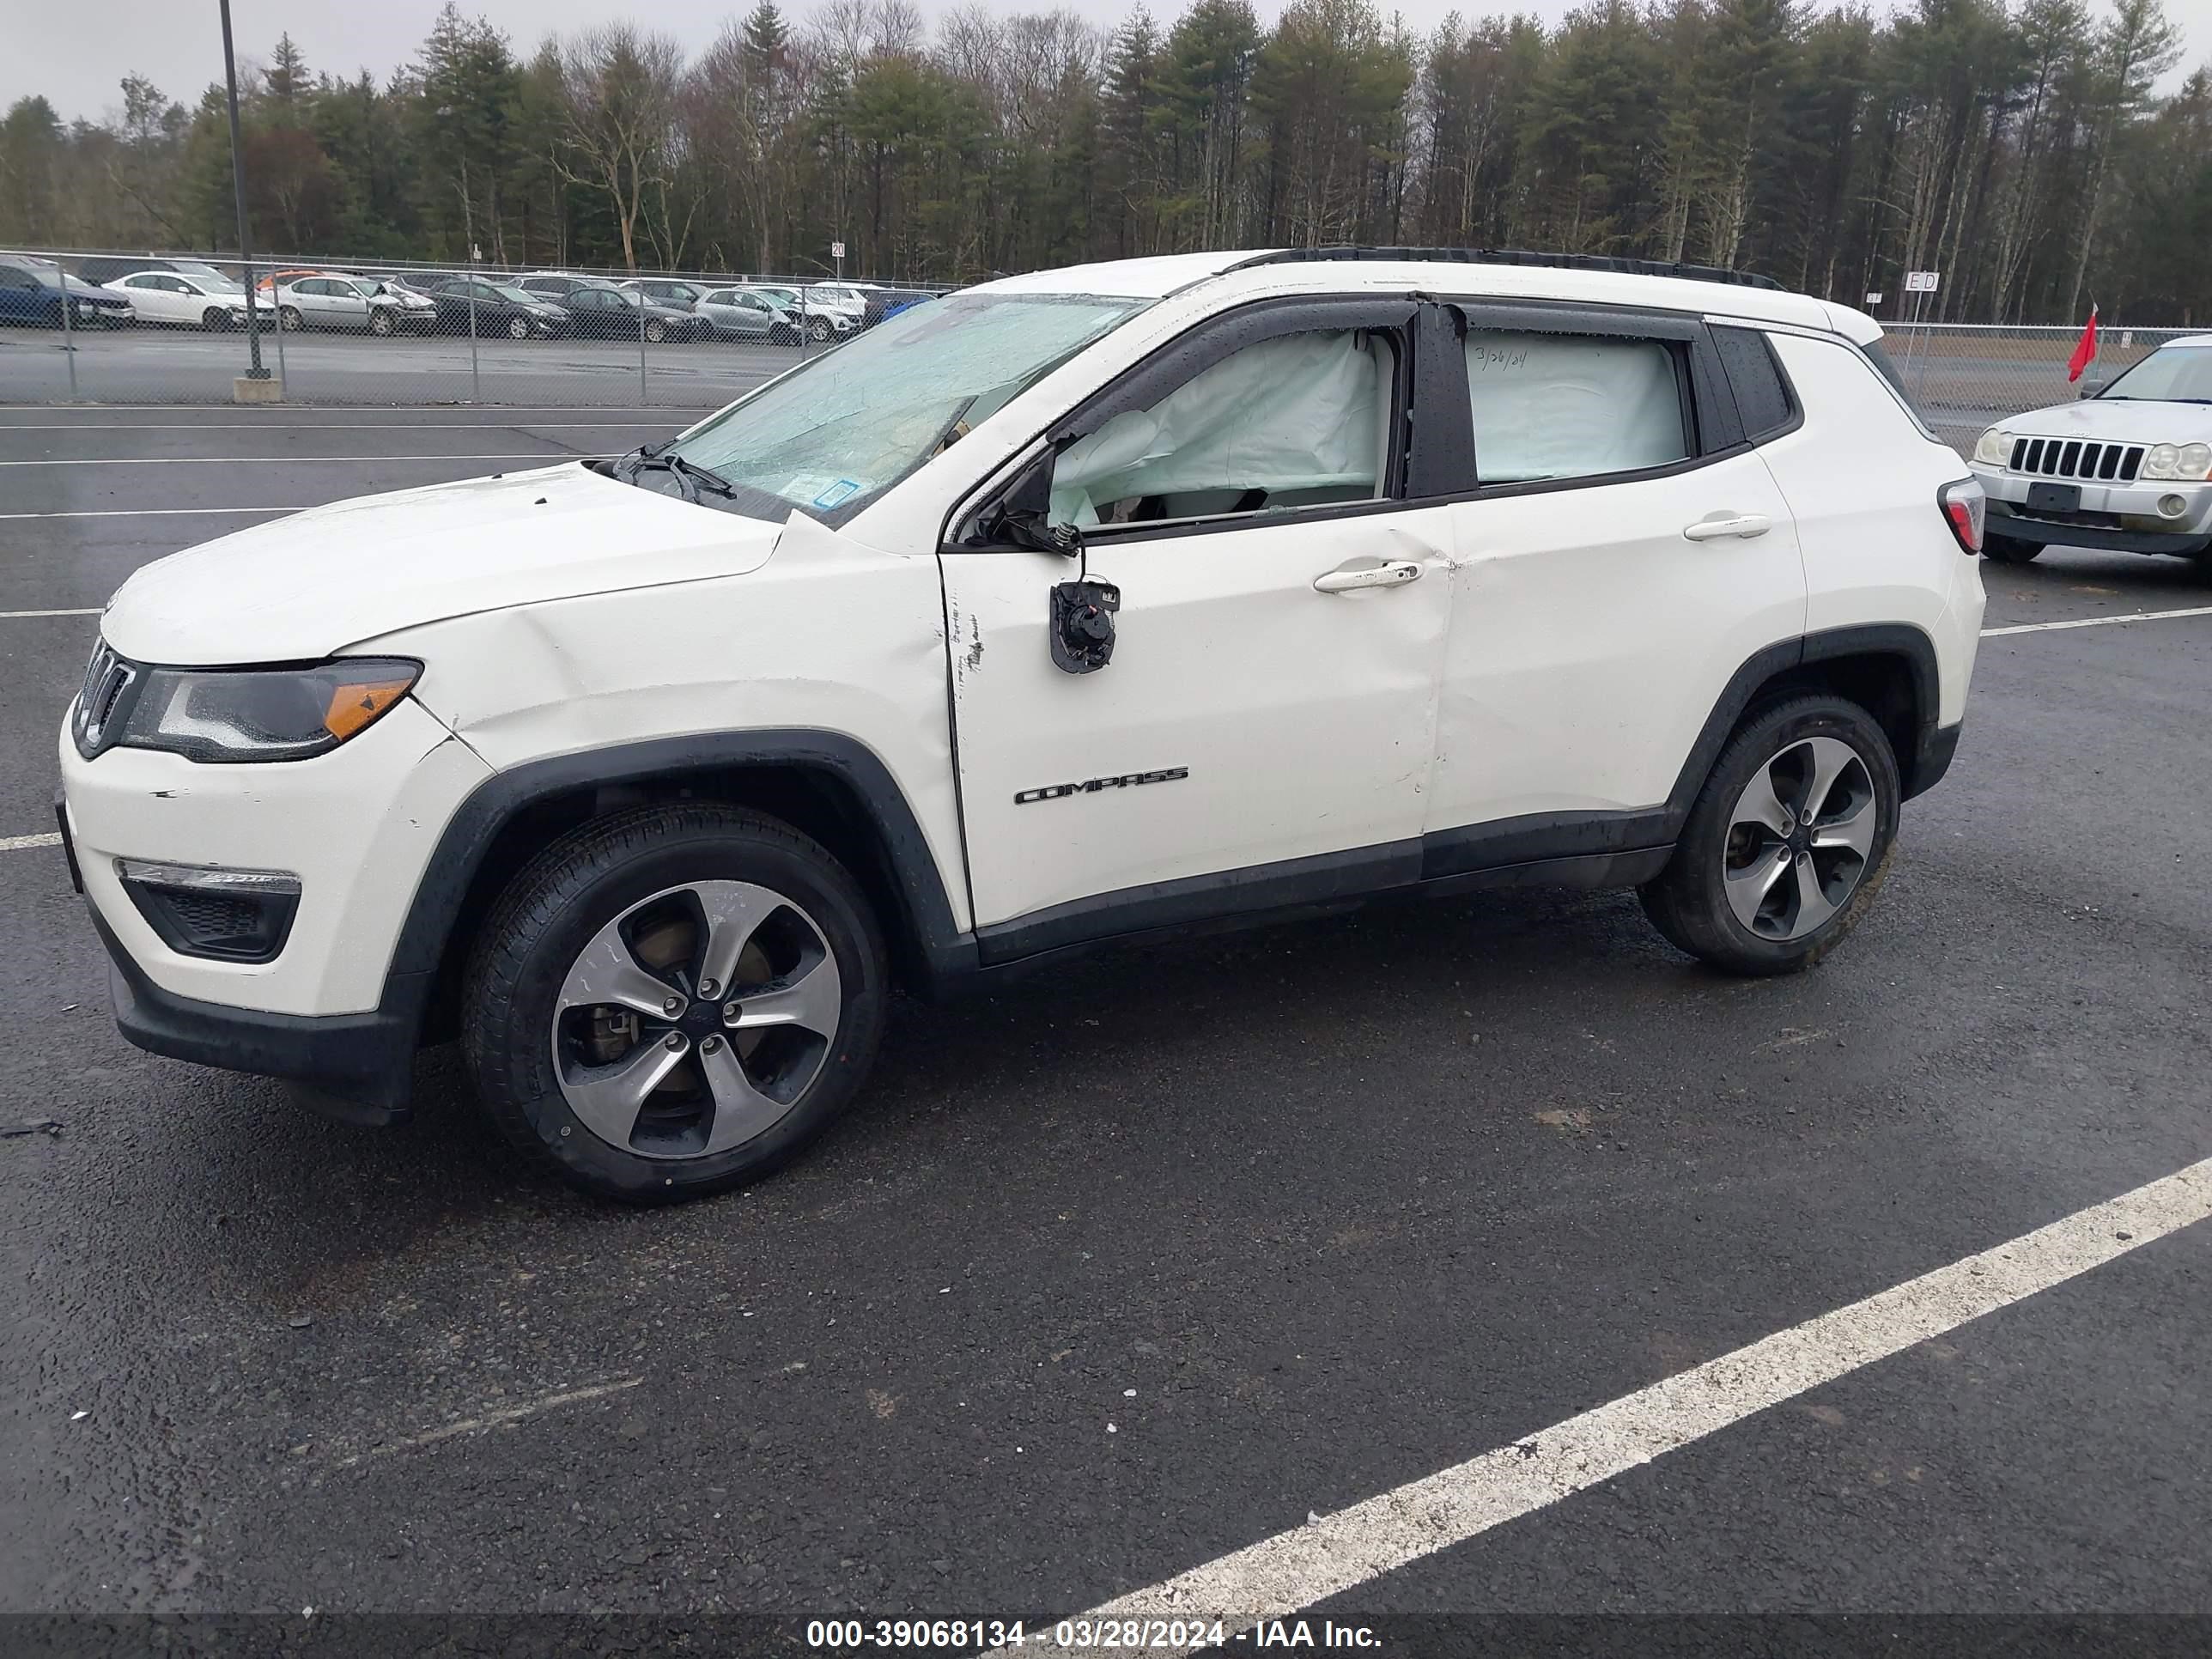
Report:
<svg viewBox="0 0 2212 1659"><path fill-rule="evenodd" d="M697 1199L796 1152L883 1035L885 947L814 841L723 805L571 832L495 905L462 1048L500 1130L571 1186Z"/></svg>

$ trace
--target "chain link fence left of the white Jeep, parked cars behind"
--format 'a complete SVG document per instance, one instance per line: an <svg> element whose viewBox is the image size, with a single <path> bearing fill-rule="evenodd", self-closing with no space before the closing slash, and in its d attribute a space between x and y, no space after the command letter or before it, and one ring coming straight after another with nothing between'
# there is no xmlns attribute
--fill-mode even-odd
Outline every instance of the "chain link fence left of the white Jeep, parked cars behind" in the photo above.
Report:
<svg viewBox="0 0 2212 1659"><path fill-rule="evenodd" d="M0 248L0 405L714 409L947 292L312 254L254 272L248 307L234 259Z"/></svg>

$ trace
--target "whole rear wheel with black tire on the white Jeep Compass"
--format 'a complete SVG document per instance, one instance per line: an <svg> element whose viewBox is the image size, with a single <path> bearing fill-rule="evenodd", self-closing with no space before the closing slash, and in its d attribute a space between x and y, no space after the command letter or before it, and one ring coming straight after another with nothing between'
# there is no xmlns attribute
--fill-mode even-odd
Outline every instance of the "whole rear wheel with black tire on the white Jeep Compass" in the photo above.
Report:
<svg viewBox="0 0 2212 1659"><path fill-rule="evenodd" d="M1880 891L1902 799L1889 737L1858 703L1774 703L1721 750L1672 860L1637 889L1644 914L1728 973L1807 969Z"/></svg>

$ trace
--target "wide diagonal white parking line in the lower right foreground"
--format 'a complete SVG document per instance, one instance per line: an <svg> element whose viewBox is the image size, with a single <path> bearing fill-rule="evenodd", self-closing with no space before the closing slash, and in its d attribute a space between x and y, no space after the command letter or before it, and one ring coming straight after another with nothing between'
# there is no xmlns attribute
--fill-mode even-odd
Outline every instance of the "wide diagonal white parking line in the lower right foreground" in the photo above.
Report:
<svg viewBox="0 0 2212 1659"><path fill-rule="evenodd" d="M2205 1217L2212 1159L1077 1617L1285 1619Z"/></svg>

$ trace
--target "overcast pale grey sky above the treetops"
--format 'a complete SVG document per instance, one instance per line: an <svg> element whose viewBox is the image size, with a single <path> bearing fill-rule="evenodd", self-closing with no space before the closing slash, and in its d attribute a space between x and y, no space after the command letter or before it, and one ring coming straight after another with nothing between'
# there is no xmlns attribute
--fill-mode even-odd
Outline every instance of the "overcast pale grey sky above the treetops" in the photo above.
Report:
<svg viewBox="0 0 2212 1659"><path fill-rule="evenodd" d="M281 31L307 53L307 66L334 75L356 75L369 69L385 80L407 62L429 33L442 0L232 0L230 22L237 31L239 58L261 60ZM936 15L951 0L918 0ZM1048 11L1044 0L987 0L995 11ZM1281 0L1256 0L1272 18ZM1480 15L1484 11L1533 11L1557 22L1571 0L1400 0L1383 11L1400 11L1427 33L1447 11ZM703 46L721 22L743 4L730 0L462 0L465 13L482 13L504 29L524 55L546 35L606 22L611 15L650 20L695 46ZM1128 15L1126 0L1086 0L1084 15L1110 22ZM1155 18L1172 20L1179 0L1150 0ZM2099 7L2101 9L2101 7ZM2181 27L2188 51L2183 62L2197 64L2212 53L2212 0L2166 0L2168 15ZM170 97L190 104L199 91L223 75L223 38L215 0L95 0L77 13L66 0L7 0L11 20L0 29L9 51L0 55L0 106L27 93L44 93L64 119L100 117L122 108L117 84L128 73L153 80ZM803 15L807 0L785 0L790 15Z"/></svg>

